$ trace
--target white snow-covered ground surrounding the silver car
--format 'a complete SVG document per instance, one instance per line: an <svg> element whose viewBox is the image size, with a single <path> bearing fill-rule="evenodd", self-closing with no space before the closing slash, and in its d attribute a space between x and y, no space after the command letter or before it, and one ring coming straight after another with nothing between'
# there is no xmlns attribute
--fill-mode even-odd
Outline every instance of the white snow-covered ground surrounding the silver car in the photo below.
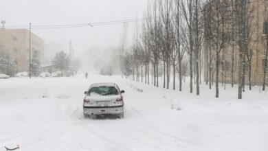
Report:
<svg viewBox="0 0 268 151"><path fill-rule="evenodd" d="M84 119L83 92L93 82L124 89L124 119ZM170 84L171 85L171 84ZM201 86L201 95L90 74L0 79L0 150L268 150L268 92L236 100L237 89Z"/></svg>

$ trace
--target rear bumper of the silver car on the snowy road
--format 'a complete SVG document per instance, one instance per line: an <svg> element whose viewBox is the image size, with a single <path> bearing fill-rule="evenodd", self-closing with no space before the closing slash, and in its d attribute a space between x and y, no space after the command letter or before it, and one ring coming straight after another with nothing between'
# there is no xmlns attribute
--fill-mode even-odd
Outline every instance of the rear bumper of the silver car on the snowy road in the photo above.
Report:
<svg viewBox="0 0 268 151"><path fill-rule="evenodd" d="M120 114L124 113L124 105L119 106L83 106L86 115Z"/></svg>

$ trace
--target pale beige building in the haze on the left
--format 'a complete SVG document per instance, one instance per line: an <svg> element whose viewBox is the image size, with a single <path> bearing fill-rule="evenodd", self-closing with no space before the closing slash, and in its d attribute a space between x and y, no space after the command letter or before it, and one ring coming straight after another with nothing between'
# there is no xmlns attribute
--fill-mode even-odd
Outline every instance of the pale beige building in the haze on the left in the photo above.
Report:
<svg viewBox="0 0 268 151"><path fill-rule="evenodd" d="M30 32L26 29L0 29L0 50L10 54L17 71L28 71ZM31 33L31 52L38 51L41 62L44 58L44 40ZM32 53L31 53L32 54Z"/></svg>

